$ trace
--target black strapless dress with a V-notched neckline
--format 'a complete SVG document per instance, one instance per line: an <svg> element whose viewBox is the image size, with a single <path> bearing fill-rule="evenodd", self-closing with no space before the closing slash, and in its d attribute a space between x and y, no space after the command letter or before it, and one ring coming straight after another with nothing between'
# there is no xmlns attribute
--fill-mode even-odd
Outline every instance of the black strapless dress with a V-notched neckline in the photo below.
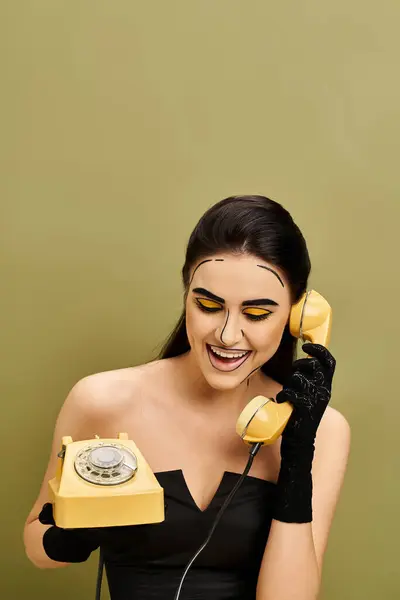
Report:
<svg viewBox="0 0 400 600"><path fill-rule="evenodd" d="M226 471L201 511L181 470L155 473L164 488L163 523L124 528L103 548L111 600L174 600L183 571L208 535L240 474ZM180 600L254 600L275 484L247 475L211 540L186 575Z"/></svg>

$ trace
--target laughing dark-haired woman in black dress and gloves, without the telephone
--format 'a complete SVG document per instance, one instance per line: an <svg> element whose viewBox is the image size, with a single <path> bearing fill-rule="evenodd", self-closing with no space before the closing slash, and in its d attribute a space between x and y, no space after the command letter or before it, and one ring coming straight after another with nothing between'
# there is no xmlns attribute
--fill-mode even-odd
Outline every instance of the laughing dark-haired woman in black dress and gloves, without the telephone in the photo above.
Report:
<svg viewBox="0 0 400 600"><path fill-rule="evenodd" d="M159 359L85 377L61 409L25 525L26 552L35 565L83 562L101 546L112 600L172 600L247 462L236 420L263 395L289 400L290 421L276 443L261 448L180 598L317 597L350 435L344 417L328 407L332 355L305 344L311 358L294 360L288 318L309 272L304 238L280 204L238 196L203 215L182 271L184 310ZM160 305L161 298L162 290ZM107 438L119 431L128 432L164 488L165 522L56 527L47 481L61 437Z"/></svg>

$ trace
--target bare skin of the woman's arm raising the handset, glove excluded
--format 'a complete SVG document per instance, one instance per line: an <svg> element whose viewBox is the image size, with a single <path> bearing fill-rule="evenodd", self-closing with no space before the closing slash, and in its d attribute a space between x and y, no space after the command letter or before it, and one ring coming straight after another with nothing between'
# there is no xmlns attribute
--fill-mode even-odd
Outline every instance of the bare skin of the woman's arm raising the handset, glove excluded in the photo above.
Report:
<svg viewBox="0 0 400 600"><path fill-rule="evenodd" d="M327 409L315 441L313 460L313 520L310 523L272 521L260 569L257 600L315 600L350 448L350 428L344 417Z"/></svg>

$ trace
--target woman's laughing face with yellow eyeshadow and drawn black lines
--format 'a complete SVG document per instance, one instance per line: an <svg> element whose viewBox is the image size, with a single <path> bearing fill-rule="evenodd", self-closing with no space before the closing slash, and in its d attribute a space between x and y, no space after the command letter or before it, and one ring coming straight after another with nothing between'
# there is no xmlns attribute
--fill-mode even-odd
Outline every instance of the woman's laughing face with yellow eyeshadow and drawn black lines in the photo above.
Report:
<svg viewBox="0 0 400 600"><path fill-rule="evenodd" d="M193 358L215 389L237 387L279 347L290 290L275 266L249 255L219 254L191 271L186 330Z"/></svg>

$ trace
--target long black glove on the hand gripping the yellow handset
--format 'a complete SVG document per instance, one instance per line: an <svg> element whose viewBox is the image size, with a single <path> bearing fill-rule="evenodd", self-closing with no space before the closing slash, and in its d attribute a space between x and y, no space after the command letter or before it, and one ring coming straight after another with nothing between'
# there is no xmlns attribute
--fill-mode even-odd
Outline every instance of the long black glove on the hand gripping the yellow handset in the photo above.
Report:
<svg viewBox="0 0 400 600"><path fill-rule="evenodd" d="M336 361L320 344L304 344L312 358L293 363L292 375L276 402L290 402L293 412L282 433L281 468L273 517L286 523L312 521L314 441L331 398Z"/></svg>

